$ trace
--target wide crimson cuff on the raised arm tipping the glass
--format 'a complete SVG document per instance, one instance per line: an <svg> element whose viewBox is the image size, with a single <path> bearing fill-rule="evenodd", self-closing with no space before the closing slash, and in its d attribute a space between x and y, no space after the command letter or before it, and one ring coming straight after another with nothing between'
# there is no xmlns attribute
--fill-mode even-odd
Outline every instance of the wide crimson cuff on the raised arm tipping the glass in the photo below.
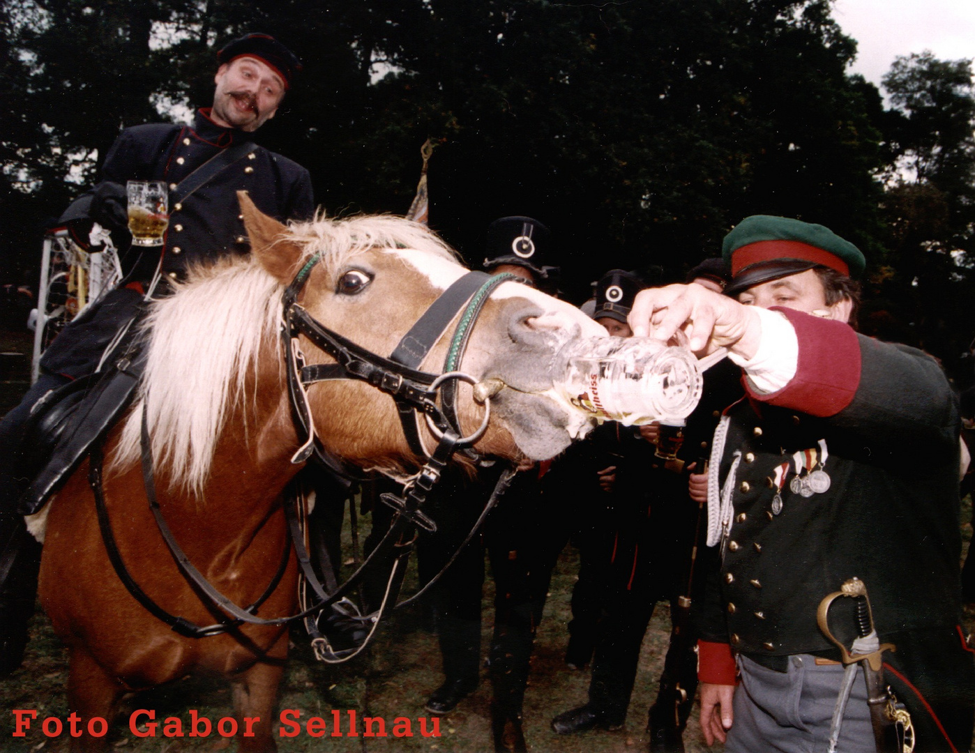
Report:
<svg viewBox="0 0 975 753"><path fill-rule="evenodd" d="M853 327L775 307L786 316L799 338L796 376L770 395L748 394L760 402L791 408L812 416L835 416L856 395L860 385L860 344Z"/></svg>

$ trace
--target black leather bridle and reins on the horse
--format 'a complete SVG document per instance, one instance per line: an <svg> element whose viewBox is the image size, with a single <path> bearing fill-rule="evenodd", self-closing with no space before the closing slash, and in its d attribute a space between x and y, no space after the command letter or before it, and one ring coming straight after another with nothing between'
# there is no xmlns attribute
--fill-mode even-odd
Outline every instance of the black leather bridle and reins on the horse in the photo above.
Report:
<svg viewBox="0 0 975 753"><path fill-rule="evenodd" d="M288 374L288 390L292 401L294 421L300 430L299 436L301 433L304 433L306 437L292 456L292 463L303 463L314 453L317 459L332 471L346 477L355 477L355 471L348 464L326 453L316 441L314 419L308 404L306 388L316 382L331 379L363 380L386 394L391 395L396 401L401 424L403 425L410 448L418 456L426 458L426 462L419 473L405 483L401 495L391 493L381 495L382 501L386 505L394 508L397 515L379 544L375 546L369 556L366 557L356 571L343 584L336 585L332 588L332 592L328 593L319 582L311 566L311 559L308 555L307 547L304 544L302 525L303 509L300 513L297 510L298 505L301 505L302 502L294 500L294 509L292 509L290 502L285 502L285 512L289 522L292 544L304 581L315 592L319 600L290 617L271 620L256 617L256 611L259 606L274 592L284 577L291 555L291 548L287 546L285 547L284 557L270 584L268 584L261 596L249 607L241 608L237 606L216 590L214 585L207 581L190 562L182 548L178 545L159 506L152 471L152 453L149 443L147 411L143 406L140 432L141 466L149 508L152 511L160 534L176 559L176 563L184 578L187 582L193 584L198 592L205 594L214 606L218 607L228 616L225 621L205 626L195 624L181 617L176 617L156 604L136 583L125 567L125 563L115 542L108 512L105 507L100 444L92 450L89 483L95 495L98 526L102 540L116 574L142 607L159 620L169 624L178 634L192 638L203 638L226 632L245 622L258 625L281 625L291 621L309 618L315 613L320 613L326 607L335 605L334 608L338 609L347 617L372 622L368 637L356 649L336 653L331 650L328 641L324 637L317 638L316 641L313 641L313 645L317 642L315 651L320 659L344 661L359 654L369 644L380 618L388 614L394 608L394 605L405 606L411 603L436 583L459 552L458 548L440 573L425 584L418 593L404 602L396 604L400 585L403 583L405 576L409 553L416 539L417 528L429 532L437 530L436 523L421 509L426 501L427 495L440 480L441 473L446 468L452 456L457 451L466 451L487 431L487 423L490 417L489 397L484 402L485 416L481 425L474 433L468 436L461 435L462 432L456 415L456 382L466 381L473 385L476 383L476 380L463 372L457 371L456 368L463 357L470 333L491 291L501 282L514 280L515 276L496 275L492 277L482 272L470 272L459 278L413 324L409 332L400 340L400 343L391 356L389 358L383 358L324 326L320 321L311 317L307 310L297 303L299 293L304 288L312 269L319 262L320 258L320 255L316 254L308 260L297 273L291 284L285 289L282 297L282 340ZM450 321L456 317L457 312L460 311L465 303L467 303L467 306L458 321L448 348L445 372L437 375L417 370L420 362L447 331ZM297 337L299 335L307 337L313 345L331 356L331 358L334 358L336 362L306 365L304 354L298 346ZM440 390L443 409L437 405L438 389ZM427 453L420 440L418 429L420 416L423 416L431 433L438 439L437 447L433 453ZM487 501L484 511L464 541L464 545L474 537L481 523L487 517L487 512L493 507L498 496L507 488L513 474L514 471L505 471L502 474L494 492ZM394 548L398 548L399 552L391 567L381 605L376 612L363 616L359 614L358 608L345 598L345 595L354 585L363 580L370 563L376 561L379 557L388 553L390 549ZM302 598L303 601L304 599ZM341 602L344 603L339 606ZM355 614L348 614L347 610L349 607L354 610Z"/></svg>

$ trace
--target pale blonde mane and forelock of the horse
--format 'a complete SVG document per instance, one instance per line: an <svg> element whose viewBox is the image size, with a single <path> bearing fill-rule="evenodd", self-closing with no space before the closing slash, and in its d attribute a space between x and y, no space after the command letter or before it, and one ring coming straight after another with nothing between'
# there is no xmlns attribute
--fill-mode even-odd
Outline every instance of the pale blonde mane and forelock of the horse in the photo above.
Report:
<svg viewBox="0 0 975 753"><path fill-rule="evenodd" d="M326 269L375 247L415 248L456 259L425 226L391 215L337 220L319 215L292 223L280 241L299 245L302 261L321 254ZM284 289L254 256L228 256L192 269L173 295L153 302L143 324L149 332L146 368L112 470L137 463L141 416L147 410L157 475L165 473L174 491L202 497L227 416L247 403L245 386L257 373L258 354L266 345L273 346L276 358L280 353Z"/></svg>

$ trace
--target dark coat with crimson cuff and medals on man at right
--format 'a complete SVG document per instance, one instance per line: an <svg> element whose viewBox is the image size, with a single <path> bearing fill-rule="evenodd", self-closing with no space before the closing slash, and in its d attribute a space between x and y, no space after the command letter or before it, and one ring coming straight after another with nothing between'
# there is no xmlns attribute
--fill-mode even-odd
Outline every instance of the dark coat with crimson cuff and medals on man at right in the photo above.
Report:
<svg viewBox="0 0 975 753"><path fill-rule="evenodd" d="M888 679L905 676L932 704L957 699L969 712L960 729L967 724L961 734L970 739L975 668L957 627L956 396L920 351L783 313L799 336L798 372L778 393L751 395L727 412L720 475L722 488L731 485L733 513L720 573L695 604L696 625L705 641L730 642L766 665L791 654L828 656L836 647L817 626L817 607L859 578L880 641L898 645L885 655ZM831 485L802 497L790 490L794 453L818 453L820 440ZM787 463L776 512L775 469ZM844 625L836 632L850 633ZM701 676L714 681L705 677L708 653Z"/></svg>

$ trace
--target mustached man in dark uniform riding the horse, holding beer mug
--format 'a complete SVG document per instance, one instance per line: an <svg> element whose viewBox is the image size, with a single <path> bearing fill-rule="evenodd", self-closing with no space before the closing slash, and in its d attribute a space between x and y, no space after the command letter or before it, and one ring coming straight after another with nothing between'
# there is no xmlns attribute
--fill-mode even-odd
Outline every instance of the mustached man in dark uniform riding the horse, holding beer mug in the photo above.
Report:
<svg viewBox="0 0 975 753"><path fill-rule="evenodd" d="M124 247L126 181L165 180L169 185L171 216L164 245L140 254L130 251L123 281L65 327L41 359L37 382L0 422L0 676L19 667L23 658L40 565L40 545L26 533L17 509L31 481L23 477L31 407L51 390L97 371L106 349L137 318L153 287L158 296L195 263L250 251L237 191L247 191L257 207L280 220L307 220L314 213L308 170L251 141L251 134L277 112L301 68L298 58L266 34L236 39L216 58L213 106L199 109L192 126L125 129L105 157L101 181L60 218L83 247L88 247L94 222Z"/></svg>

